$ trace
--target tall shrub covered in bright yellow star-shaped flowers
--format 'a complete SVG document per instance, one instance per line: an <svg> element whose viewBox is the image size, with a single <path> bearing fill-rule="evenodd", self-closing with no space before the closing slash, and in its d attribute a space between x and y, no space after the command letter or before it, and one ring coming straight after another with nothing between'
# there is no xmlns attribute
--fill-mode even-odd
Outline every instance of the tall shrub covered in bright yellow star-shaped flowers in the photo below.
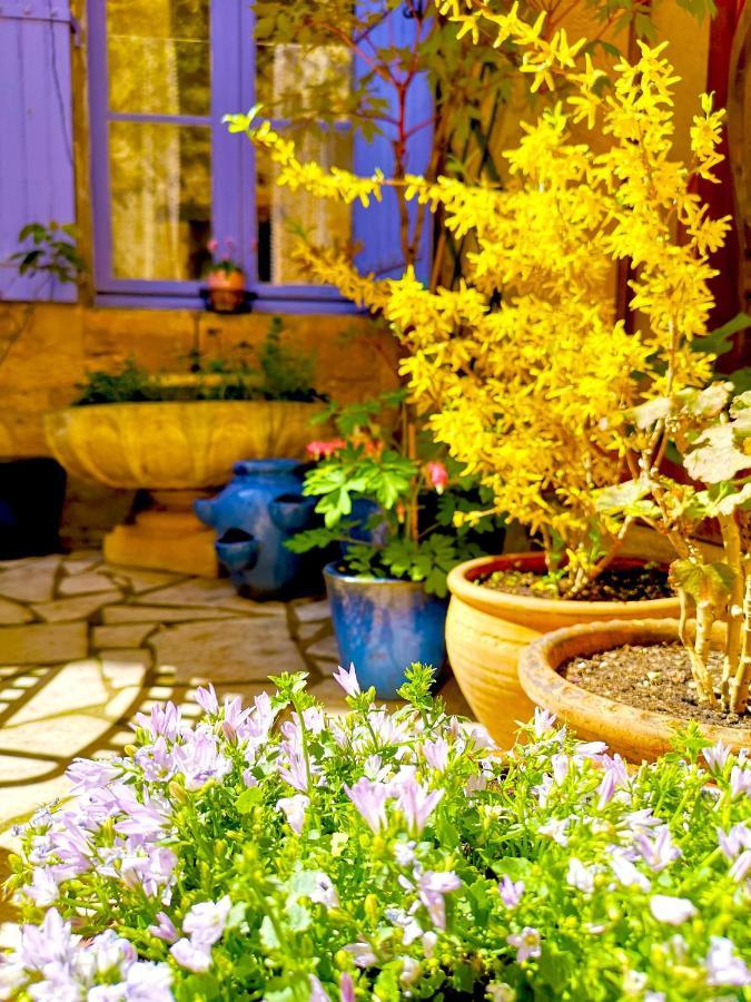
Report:
<svg viewBox="0 0 751 1002"><path fill-rule="evenodd" d="M472 235L466 281L432 291L411 269L378 281L336 250L303 243L298 254L317 281L393 324L407 350L412 399L437 441L491 490L495 511L541 538L551 580L575 597L613 561L629 528L624 520L613 532L596 501L634 460L614 415L711 377L713 356L691 342L706 333L708 257L729 220L710 218L694 178L713 179L722 112L702 98L693 161L678 163L675 78L663 47L642 45L633 65L617 63L607 89L581 55L584 40L546 33L543 14L531 23L517 4L504 13L460 0L437 7L462 35L515 47L532 90L563 88L505 153L502 188L405 179L406 197L441 212L456 238ZM347 203L379 198L388 185L300 163L268 122L235 116L231 128L268 151L279 184ZM620 261L633 268L634 333L614 315Z"/></svg>

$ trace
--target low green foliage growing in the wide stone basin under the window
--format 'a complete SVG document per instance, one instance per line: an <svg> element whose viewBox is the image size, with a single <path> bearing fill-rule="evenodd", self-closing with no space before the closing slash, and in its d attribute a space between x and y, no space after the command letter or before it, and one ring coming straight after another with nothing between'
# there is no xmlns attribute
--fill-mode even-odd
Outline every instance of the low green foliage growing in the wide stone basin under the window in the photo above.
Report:
<svg viewBox="0 0 751 1002"><path fill-rule="evenodd" d="M128 358L118 372L90 372L76 405L170 400L324 400L313 389L315 358L286 345L284 324L275 316L256 360L214 358L192 353L191 373L160 376ZM247 346L246 346L247 347Z"/></svg>

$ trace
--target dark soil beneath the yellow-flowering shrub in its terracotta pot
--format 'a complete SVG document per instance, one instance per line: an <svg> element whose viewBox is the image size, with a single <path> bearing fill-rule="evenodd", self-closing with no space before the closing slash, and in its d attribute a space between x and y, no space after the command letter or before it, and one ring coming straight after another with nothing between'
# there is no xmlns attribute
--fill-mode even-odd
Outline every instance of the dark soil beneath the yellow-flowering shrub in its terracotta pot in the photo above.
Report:
<svg viewBox="0 0 751 1002"><path fill-rule="evenodd" d="M521 566L504 568L475 579L475 584L502 591L506 595L523 595L533 598L556 599L557 592L552 581L536 571ZM646 599L670 598L673 591L668 581L668 571L656 563L633 566L625 563L609 568L599 578L571 596L579 602L638 602Z"/></svg>

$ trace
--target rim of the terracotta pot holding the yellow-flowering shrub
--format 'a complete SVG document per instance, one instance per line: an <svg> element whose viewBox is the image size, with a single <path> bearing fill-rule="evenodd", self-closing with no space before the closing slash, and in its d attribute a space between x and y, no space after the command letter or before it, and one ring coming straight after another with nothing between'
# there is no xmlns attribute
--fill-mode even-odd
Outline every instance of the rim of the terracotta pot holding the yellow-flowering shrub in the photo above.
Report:
<svg viewBox="0 0 751 1002"><path fill-rule="evenodd" d="M622 557L616 559L615 566L636 567L649 562L636 557ZM669 596L661 599L638 599L626 602L580 602L574 599L538 598L534 595L512 595L507 591L496 591L493 588L483 588L475 584L475 580L483 573L508 567L513 563L527 564L530 569L544 568L544 556L540 552L504 553L497 557L476 557L474 560L465 560L448 572L447 583L452 595L462 599L468 606L491 615L503 617L504 612L523 612L534 609L535 612L550 612L561 615L567 612L572 618L576 615L582 618L609 619L620 617L626 609L643 610L644 618L651 615L660 616L671 610L678 612L678 598Z"/></svg>

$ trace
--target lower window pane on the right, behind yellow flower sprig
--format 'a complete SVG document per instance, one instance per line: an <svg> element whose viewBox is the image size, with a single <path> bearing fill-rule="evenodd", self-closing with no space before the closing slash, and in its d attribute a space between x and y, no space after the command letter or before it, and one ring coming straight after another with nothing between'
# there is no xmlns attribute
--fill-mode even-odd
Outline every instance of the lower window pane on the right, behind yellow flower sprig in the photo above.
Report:
<svg viewBox="0 0 751 1002"><path fill-rule="evenodd" d="M348 131L299 136L297 150L300 159L317 160L324 167L352 167ZM278 168L265 154L256 155L256 169L258 278L280 285L309 284L291 259L297 236L290 227L302 226L313 244L345 246L352 238L352 210L328 198L277 187Z"/></svg>

